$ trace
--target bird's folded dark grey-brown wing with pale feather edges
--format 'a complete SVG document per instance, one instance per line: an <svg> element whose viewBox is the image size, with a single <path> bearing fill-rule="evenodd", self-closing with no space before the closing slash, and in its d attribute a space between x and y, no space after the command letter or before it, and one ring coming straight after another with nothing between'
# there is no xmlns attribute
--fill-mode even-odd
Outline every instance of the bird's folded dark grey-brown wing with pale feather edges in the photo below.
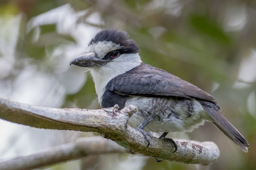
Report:
<svg viewBox="0 0 256 170"><path fill-rule="evenodd" d="M106 89L120 95L149 97L184 97L217 102L207 92L161 69L142 63L114 77Z"/></svg>

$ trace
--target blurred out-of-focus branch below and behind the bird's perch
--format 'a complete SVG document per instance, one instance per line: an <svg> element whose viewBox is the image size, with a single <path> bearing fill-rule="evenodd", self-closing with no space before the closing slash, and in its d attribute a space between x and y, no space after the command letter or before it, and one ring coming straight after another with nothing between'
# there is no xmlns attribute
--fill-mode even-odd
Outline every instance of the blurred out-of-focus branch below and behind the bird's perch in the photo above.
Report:
<svg viewBox="0 0 256 170"><path fill-rule="evenodd" d="M1 170L30 170L47 165L77 160L87 155L106 153L125 153L127 149L102 137L80 137L74 142L53 147L29 156L19 156L7 161L0 161Z"/></svg>

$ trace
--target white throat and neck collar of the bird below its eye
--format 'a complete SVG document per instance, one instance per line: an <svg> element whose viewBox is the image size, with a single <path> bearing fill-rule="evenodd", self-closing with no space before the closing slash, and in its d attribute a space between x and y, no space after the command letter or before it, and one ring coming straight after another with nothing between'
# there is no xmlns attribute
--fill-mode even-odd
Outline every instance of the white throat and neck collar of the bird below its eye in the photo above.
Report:
<svg viewBox="0 0 256 170"><path fill-rule="evenodd" d="M96 94L98 95L100 105L108 82L114 77L124 74L125 72L132 70L134 67L139 66L141 62L141 57L138 53L122 54L102 67L94 67L91 69L91 75L93 76Z"/></svg>

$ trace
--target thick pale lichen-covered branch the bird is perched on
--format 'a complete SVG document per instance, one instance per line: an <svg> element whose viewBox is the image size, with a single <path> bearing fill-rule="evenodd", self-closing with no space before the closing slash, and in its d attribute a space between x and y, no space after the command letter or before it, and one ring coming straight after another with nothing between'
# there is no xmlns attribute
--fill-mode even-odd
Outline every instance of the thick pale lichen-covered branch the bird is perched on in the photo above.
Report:
<svg viewBox="0 0 256 170"><path fill-rule="evenodd" d="M135 106L118 110L118 106L107 109L61 109L20 104L0 97L0 119L43 129L62 129L99 132L141 154L169 161L209 164L219 157L219 149L213 142L195 142L177 139L175 153L171 143L152 137L150 146L144 136L128 126L129 117L136 112Z"/></svg>

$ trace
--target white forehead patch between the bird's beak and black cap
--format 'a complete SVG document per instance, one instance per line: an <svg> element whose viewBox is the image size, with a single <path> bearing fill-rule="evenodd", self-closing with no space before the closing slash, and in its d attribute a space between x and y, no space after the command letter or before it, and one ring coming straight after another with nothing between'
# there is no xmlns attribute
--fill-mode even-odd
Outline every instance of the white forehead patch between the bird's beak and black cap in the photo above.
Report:
<svg viewBox="0 0 256 170"><path fill-rule="evenodd" d="M98 41L97 43L91 44L87 48L87 52L96 52L98 57L102 59L110 51L119 50L122 46L115 44L112 41Z"/></svg>

